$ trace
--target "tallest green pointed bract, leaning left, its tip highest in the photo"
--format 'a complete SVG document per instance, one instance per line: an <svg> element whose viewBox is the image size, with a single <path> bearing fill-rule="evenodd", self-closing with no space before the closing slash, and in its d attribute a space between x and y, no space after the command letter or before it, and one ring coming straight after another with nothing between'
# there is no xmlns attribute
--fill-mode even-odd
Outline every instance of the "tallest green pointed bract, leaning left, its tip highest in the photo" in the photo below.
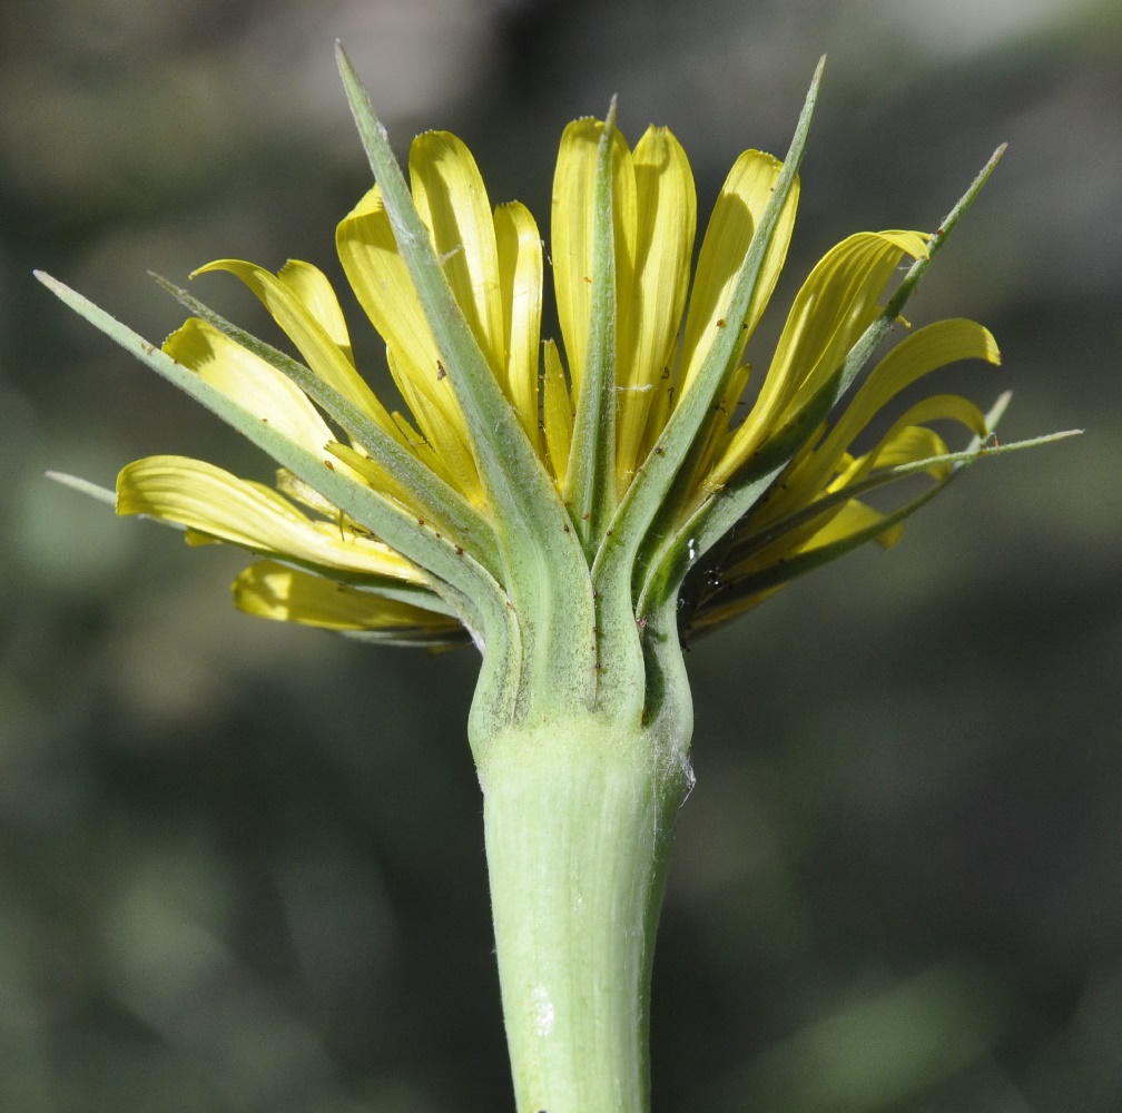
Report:
<svg viewBox="0 0 1122 1113"><path fill-rule="evenodd" d="M505 586L522 620L525 665L516 717L590 707L596 618L583 551L452 294L385 129L341 44L335 54L398 251L448 364L495 523Z"/></svg>

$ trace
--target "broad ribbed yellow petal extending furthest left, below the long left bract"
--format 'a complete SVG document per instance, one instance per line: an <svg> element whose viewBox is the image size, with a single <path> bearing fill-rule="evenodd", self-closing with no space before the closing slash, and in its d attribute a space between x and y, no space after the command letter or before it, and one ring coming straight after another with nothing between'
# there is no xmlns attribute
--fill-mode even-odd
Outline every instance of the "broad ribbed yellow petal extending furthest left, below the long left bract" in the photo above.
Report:
<svg viewBox="0 0 1122 1113"><path fill-rule="evenodd" d="M338 522L313 521L275 490L203 460L156 456L128 464L117 479L117 513L160 518L285 560L427 583L388 545L347 533Z"/></svg>

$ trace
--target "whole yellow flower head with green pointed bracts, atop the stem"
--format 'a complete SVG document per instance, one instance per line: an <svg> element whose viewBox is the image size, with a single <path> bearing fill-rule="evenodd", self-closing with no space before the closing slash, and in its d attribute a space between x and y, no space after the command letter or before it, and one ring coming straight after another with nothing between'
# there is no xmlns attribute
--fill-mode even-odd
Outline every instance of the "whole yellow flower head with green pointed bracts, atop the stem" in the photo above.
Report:
<svg viewBox="0 0 1122 1113"><path fill-rule="evenodd" d="M827 252L770 365L749 372L819 75L787 159L748 150L734 164L692 283L686 154L653 127L629 148L613 105L562 136L551 217L561 344L543 344L533 217L517 202L493 209L467 147L445 132L414 140L407 186L340 57L378 184L339 224L337 247L407 413L367 385L335 294L306 263L199 272L249 286L298 359L169 284L196 315L156 350L49 280L280 464L275 489L176 457L139 460L118 480L119 513L260 555L234 583L242 609L387 642L470 637L485 655L477 715L493 727L560 706L688 716L680 637L858 544L892 544L903 517L993 451L1004 403L985 415L954 395L854 447L929 371L997 361L971 321L909 333L838 404L997 156L934 234L862 232ZM931 427L947 422L968 434L962 452ZM898 509L863 500L914 475L930 484Z"/></svg>

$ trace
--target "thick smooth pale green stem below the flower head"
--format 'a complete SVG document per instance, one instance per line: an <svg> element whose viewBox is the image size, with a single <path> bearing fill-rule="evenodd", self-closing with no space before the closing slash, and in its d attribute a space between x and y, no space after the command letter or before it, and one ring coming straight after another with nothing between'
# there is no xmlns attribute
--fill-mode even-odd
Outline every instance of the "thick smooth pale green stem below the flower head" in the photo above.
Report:
<svg viewBox="0 0 1122 1113"><path fill-rule="evenodd" d="M651 958L688 738L581 714L480 755L518 1113L644 1113Z"/></svg>

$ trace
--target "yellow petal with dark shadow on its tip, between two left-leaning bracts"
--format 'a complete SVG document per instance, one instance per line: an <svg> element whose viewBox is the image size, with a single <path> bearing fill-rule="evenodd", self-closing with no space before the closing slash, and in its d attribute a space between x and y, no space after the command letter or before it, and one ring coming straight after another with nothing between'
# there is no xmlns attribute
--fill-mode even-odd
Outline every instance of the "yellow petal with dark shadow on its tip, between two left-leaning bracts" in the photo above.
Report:
<svg viewBox="0 0 1122 1113"><path fill-rule="evenodd" d="M164 351L303 448L319 453L334 440L302 390L204 321L191 318L164 341Z"/></svg>

